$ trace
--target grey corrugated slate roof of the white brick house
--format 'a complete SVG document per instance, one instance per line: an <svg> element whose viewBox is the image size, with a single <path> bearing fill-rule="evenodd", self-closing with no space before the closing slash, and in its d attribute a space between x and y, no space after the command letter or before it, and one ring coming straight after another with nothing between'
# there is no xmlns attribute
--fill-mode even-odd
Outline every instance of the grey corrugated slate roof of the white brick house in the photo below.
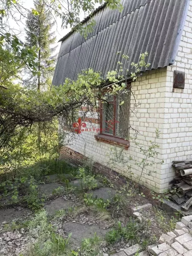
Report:
<svg viewBox="0 0 192 256"><path fill-rule="evenodd" d="M130 57L126 69L145 51L151 63L148 70L175 62L189 0L123 0L122 4L121 13L104 5L82 21L84 25L89 19L96 21L86 40L74 31L61 39L53 85L66 77L74 80L87 68L105 77L118 61L124 63L118 51Z"/></svg>

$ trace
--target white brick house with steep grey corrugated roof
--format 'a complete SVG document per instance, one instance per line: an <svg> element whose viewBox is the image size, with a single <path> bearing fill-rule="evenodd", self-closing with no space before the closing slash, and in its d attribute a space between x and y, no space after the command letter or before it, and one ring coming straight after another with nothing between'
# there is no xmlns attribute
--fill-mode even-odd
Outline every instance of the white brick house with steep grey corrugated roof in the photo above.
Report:
<svg viewBox="0 0 192 256"><path fill-rule="evenodd" d="M155 131L159 129L155 164L148 166L139 180L141 168L134 160L141 161L140 149L124 140L118 128L115 132L113 129L102 131L99 117L106 115L104 106L102 113L98 116L95 113L91 120L95 130L76 134L73 141L63 147L61 157L74 161L85 156L94 161L96 169L111 175L119 173L133 181L139 180L149 189L163 192L175 176L172 161L191 159L192 155L192 0L124 0L123 7L120 13L104 4L82 21L84 25L90 19L96 21L86 39L72 31L60 40L53 84L62 84L66 77L74 80L87 68L101 71L105 77L122 61L118 51L130 57L129 63L137 63L139 55L147 51L147 62L151 65L131 82L133 94L127 96L130 98L124 103L128 111L129 101L132 105L136 98L140 104L136 109L137 117L127 112L121 122L127 125L129 120L139 131L139 144L145 147L154 140ZM102 117L102 120L109 121L109 118ZM115 162L109 166L114 145L124 157L130 155L134 160L127 165ZM160 164L162 160L164 163Z"/></svg>

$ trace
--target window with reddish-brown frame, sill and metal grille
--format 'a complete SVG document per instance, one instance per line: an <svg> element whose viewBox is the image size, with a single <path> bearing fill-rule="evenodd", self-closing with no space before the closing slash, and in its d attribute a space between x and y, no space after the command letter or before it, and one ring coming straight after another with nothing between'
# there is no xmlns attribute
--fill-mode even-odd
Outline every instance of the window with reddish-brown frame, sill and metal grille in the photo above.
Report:
<svg viewBox="0 0 192 256"><path fill-rule="evenodd" d="M119 92L117 96L106 93L106 102L101 103L100 134L97 140L110 144L126 144L129 137L130 90ZM114 142L114 143L111 143Z"/></svg>

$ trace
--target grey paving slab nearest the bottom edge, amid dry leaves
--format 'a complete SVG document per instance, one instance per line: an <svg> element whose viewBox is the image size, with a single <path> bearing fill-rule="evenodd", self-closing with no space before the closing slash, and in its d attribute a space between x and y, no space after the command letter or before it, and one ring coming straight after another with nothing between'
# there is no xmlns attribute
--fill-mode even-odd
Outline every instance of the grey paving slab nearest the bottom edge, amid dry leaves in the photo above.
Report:
<svg viewBox="0 0 192 256"><path fill-rule="evenodd" d="M103 229L100 225L83 225L76 222L67 222L63 224L63 229L67 234L72 233L70 240L75 246L81 244L83 238L94 237L96 233L98 236L104 237L109 229Z"/></svg>

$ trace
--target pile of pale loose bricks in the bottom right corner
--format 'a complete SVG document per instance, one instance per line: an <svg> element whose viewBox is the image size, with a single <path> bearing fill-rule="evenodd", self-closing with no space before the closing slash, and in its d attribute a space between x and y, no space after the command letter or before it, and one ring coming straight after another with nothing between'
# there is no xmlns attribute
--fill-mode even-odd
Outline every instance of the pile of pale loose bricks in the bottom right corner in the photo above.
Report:
<svg viewBox="0 0 192 256"><path fill-rule="evenodd" d="M147 249L148 252L141 251L141 246L136 244L112 256L192 256L192 215L183 217L173 232L162 234L159 244Z"/></svg>

